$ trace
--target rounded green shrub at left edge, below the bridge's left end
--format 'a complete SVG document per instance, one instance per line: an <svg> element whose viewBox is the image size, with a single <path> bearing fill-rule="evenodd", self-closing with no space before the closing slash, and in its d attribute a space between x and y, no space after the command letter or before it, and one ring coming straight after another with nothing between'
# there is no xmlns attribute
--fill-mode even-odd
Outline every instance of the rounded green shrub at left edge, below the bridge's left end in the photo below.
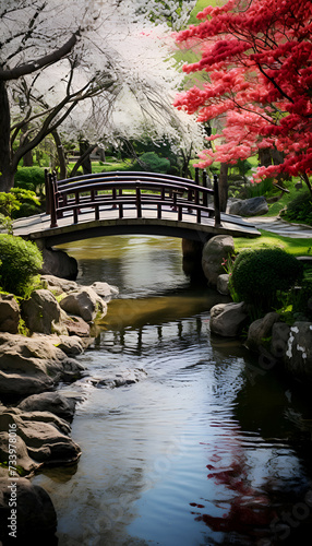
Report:
<svg viewBox="0 0 312 546"><path fill-rule="evenodd" d="M43 266L43 256L34 242L13 235L0 235L0 284L22 296Z"/></svg>

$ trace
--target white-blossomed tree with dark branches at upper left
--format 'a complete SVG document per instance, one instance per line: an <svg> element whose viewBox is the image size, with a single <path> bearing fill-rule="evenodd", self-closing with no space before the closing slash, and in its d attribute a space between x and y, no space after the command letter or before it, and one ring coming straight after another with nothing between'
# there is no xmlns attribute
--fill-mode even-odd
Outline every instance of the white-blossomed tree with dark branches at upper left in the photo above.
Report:
<svg viewBox="0 0 312 546"><path fill-rule="evenodd" d="M184 13L182 2L154 3L159 10L170 5L172 14L177 4ZM48 134L59 139L60 128L73 126L74 116L83 129L97 129L97 139L113 106L127 104L127 94L135 95L146 115L175 117L165 97L178 75L164 64L164 28L157 26L153 36L155 10L140 9L140 0L0 1L2 191L13 186L21 158ZM152 38L157 46L149 55Z"/></svg>

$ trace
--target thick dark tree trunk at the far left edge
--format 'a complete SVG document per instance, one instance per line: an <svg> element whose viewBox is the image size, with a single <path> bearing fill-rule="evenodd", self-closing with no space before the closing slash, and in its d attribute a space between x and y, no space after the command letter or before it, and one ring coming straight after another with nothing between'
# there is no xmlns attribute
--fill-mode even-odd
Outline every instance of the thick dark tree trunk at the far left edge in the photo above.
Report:
<svg viewBox="0 0 312 546"><path fill-rule="evenodd" d="M10 150L10 105L5 83L0 81L0 191L14 186L14 169Z"/></svg>

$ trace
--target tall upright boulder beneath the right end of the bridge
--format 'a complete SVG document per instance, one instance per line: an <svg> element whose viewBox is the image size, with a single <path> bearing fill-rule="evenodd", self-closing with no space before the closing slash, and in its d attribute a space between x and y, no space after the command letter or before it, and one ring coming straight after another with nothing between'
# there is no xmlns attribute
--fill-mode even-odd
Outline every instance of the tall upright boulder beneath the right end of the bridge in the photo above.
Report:
<svg viewBox="0 0 312 546"><path fill-rule="evenodd" d="M211 285L217 285L218 276L224 273L221 264L233 251L233 238L228 235L216 235L205 244L202 256L202 268Z"/></svg>

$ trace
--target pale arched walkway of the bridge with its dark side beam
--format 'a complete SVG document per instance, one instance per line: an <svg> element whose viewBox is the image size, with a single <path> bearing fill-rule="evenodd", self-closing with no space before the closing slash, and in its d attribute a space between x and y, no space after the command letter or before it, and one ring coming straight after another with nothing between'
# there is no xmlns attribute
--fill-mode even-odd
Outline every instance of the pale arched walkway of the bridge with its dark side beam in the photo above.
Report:
<svg viewBox="0 0 312 546"><path fill-rule="evenodd" d="M84 210L80 214L77 224L73 223L73 215L64 213L58 219L57 227L50 227L50 215L39 214L16 219L13 224L14 235L31 240L45 239L47 247L61 245L74 240L100 237L108 235L146 234L180 237L205 241L213 235L232 235L233 237L259 237L260 232L240 216L221 214L221 224L215 225L214 218L202 213L201 224L196 221L195 212L185 212L183 219L178 219L177 211L172 206L163 207L161 218L157 218L157 206L146 205L142 210L142 217L137 218L135 206L124 206L123 217L118 217L113 207L99 210L99 218L94 218L94 210Z"/></svg>

